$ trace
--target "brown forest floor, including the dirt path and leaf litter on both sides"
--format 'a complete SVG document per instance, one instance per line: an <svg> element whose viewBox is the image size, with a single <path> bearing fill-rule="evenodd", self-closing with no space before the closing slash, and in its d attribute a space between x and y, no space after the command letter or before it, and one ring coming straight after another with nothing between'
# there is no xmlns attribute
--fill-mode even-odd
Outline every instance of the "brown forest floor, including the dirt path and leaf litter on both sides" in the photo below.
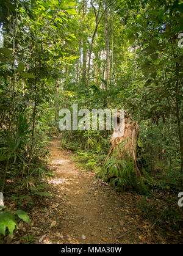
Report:
<svg viewBox="0 0 183 256"><path fill-rule="evenodd" d="M73 153L60 150L60 137L48 147L54 175L45 181L51 197L38 197L29 210L31 227L21 221L6 243L167 243L167 234L152 229L139 211L143 196L117 192L95 173L77 167ZM177 235L171 231L169 242Z"/></svg>

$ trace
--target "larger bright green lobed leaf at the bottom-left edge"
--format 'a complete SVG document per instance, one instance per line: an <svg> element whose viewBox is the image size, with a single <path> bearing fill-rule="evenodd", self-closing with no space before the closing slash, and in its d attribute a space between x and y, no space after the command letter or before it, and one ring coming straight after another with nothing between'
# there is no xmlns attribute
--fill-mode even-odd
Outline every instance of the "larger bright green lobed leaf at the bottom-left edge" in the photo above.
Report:
<svg viewBox="0 0 183 256"><path fill-rule="evenodd" d="M5 235L6 227L9 229L10 236L13 236L13 230L15 227L18 229L18 224L16 223L15 216L10 213L0 213L0 233Z"/></svg>

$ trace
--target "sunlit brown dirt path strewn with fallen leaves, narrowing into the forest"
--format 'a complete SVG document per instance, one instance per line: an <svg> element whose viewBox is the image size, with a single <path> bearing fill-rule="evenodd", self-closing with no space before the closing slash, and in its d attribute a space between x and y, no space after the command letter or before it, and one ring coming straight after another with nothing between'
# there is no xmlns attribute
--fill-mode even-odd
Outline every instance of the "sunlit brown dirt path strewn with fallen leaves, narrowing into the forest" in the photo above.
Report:
<svg viewBox="0 0 183 256"><path fill-rule="evenodd" d="M56 175L48 180L54 197L46 199L49 209L42 220L49 229L43 243L142 243L141 221L127 203L131 193L117 194L92 172L79 170L72 153L59 144L56 138L49 145Z"/></svg>

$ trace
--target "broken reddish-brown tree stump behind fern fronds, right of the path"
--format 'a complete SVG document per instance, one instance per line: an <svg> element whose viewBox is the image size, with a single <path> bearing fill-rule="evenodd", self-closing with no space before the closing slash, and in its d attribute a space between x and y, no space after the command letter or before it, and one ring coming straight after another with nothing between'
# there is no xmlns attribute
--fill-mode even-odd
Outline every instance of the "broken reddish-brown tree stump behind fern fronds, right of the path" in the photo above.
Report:
<svg viewBox="0 0 183 256"><path fill-rule="evenodd" d="M127 160L132 158L134 161L134 169L138 177L140 177L140 170L137 167L136 162L136 144L138 137L138 123L132 121L132 117L129 114L125 115L122 123L118 122L117 128L113 130L112 137L110 139L110 150L107 158L109 159L115 152L115 158ZM121 142L124 141L122 145Z"/></svg>

